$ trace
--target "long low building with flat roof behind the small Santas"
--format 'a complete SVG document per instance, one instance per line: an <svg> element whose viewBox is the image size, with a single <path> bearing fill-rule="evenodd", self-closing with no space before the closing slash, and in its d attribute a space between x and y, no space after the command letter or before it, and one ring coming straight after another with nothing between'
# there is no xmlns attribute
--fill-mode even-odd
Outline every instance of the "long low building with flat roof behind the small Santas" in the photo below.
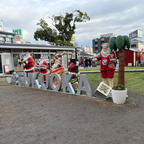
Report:
<svg viewBox="0 0 144 144"><path fill-rule="evenodd" d="M21 71L18 59L21 59L27 52L31 53L36 63L38 63L41 56L44 56L50 62L57 53L66 51L67 54L63 56L62 62L64 67L67 68L68 61L75 50L75 47L66 46L0 43L0 73L4 73L5 65L8 65L11 72Z"/></svg>

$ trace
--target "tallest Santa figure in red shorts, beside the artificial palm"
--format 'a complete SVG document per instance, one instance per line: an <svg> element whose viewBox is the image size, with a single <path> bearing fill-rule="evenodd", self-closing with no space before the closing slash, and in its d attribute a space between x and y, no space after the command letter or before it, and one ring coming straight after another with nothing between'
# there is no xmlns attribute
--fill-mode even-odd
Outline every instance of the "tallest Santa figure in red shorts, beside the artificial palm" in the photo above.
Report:
<svg viewBox="0 0 144 144"><path fill-rule="evenodd" d="M113 87L115 60L115 53L110 50L108 43L104 43L102 45L101 52L96 56L96 58L93 59L93 61L100 61L102 81L108 84L110 87Z"/></svg>

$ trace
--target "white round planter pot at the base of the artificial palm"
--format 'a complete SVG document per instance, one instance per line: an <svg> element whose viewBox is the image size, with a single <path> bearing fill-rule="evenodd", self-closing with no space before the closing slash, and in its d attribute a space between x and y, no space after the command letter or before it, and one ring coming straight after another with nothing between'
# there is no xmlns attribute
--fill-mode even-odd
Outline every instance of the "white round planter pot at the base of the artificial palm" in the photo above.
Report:
<svg viewBox="0 0 144 144"><path fill-rule="evenodd" d="M127 89L125 90L113 90L112 89L112 100L116 104L124 104L127 98Z"/></svg>

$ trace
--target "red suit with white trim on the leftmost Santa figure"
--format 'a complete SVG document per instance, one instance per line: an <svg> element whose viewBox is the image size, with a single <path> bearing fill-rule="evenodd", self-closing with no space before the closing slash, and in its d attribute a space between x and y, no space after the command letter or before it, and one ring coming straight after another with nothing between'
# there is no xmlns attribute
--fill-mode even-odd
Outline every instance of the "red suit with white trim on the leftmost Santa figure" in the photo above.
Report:
<svg viewBox="0 0 144 144"><path fill-rule="evenodd" d="M35 61L32 56L25 56L23 59L24 71L26 73L34 73Z"/></svg>

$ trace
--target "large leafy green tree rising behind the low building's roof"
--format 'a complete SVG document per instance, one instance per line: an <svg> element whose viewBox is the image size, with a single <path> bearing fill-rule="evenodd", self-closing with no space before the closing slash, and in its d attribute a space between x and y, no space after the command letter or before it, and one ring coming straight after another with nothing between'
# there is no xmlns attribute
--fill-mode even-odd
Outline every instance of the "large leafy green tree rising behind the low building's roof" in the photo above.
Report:
<svg viewBox="0 0 144 144"><path fill-rule="evenodd" d="M73 13L66 13L65 16L53 16L51 20L55 29L41 19L37 23L40 28L34 32L34 39L48 41L52 45L73 46L71 38L75 34L76 23L86 22L90 17L86 12L75 10Z"/></svg>

